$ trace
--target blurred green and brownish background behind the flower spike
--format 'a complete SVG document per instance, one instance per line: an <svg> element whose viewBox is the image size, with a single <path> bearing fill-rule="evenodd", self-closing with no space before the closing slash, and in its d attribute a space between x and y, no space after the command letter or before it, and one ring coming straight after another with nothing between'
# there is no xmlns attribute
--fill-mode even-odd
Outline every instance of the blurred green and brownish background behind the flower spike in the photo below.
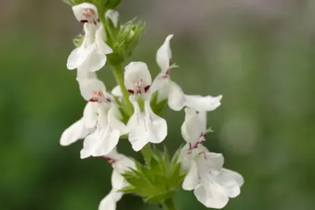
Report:
<svg viewBox="0 0 315 210"><path fill-rule="evenodd" d="M59 145L86 104L75 71L66 69L82 24L61 0L0 3L0 209L98 209L111 189L111 165L81 160L82 142ZM215 133L206 145L245 177L225 209L315 209L315 1L125 0L119 12L123 22L137 16L147 24L128 62L148 63L155 76L156 50L174 33L180 68L172 79L187 94L223 95L208 113ZM99 76L114 87L108 69ZM184 113L165 118L163 144L174 152ZM128 140L118 150L141 159ZM176 202L206 209L192 192L178 192ZM126 195L119 209L158 207Z"/></svg>

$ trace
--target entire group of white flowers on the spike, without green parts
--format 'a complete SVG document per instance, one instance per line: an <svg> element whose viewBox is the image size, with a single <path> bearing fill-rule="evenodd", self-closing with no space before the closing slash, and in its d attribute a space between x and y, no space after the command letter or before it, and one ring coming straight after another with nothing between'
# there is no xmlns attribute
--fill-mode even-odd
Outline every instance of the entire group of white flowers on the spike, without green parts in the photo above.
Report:
<svg viewBox="0 0 315 210"><path fill-rule="evenodd" d="M157 50L156 60L161 72L154 81L146 63L132 62L125 67L124 84L130 93L134 112L128 123L123 123L116 101L122 100L121 87L107 92L105 84L95 74L105 65L106 55L113 52L105 42L105 29L98 19L98 10L91 3L73 6L72 10L78 21L84 22L85 36L82 45L70 54L67 67L77 69L77 81L87 104L83 117L63 132L60 143L66 146L84 139L80 152L82 159L102 156L112 163L113 189L100 202L99 209L116 209L116 202L123 195L119 190L128 186L121 174L135 168L132 159L116 152L119 138L127 134L132 149L139 151L148 143L161 143L167 136L166 120L151 108L151 97L155 92L157 102L167 99L169 108L174 111L186 107L181 131L187 144L180 153L183 170L187 170L183 188L194 190L194 195L206 207L224 207L229 197L240 193L243 177L222 168L222 154L208 152L202 145L208 131L206 111L220 106L222 96L185 95L180 86L171 81L171 69L176 65L171 65L170 40L173 35L169 35ZM106 17L112 19L114 25L118 22L118 13L114 10L107 11Z"/></svg>

